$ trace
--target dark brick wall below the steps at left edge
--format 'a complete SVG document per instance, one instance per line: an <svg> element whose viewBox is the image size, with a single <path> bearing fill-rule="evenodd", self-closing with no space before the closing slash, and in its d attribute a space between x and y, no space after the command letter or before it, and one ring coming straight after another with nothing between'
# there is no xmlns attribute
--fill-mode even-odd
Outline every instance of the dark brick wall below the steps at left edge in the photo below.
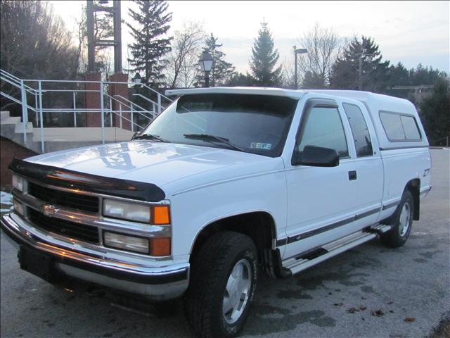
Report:
<svg viewBox="0 0 450 338"><path fill-rule="evenodd" d="M37 155L34 151L28 150L23 146L19 146L9 139L0 137L0 186L2 189L11 187L11 173L8 170L8 165L13 158L27 158Z"/></svg>

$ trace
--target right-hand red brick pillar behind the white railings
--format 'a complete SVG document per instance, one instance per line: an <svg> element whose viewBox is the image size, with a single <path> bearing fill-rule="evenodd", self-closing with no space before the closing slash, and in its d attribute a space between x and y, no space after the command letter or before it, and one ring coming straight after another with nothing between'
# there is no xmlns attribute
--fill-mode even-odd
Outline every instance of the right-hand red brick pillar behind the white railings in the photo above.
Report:
<svg viewBox="0 0 450 338"><path fill-rule="evenodd" d="M122 83L111 83L110 84L110 96L113 96L116 100L113 100L113 111L116 113L113 114L113 125L115 127L120 127L120 102L122 102L122 111L130 111L130 104L127 101L124 101L120 97L116 97L115 95L120 95L125 99L129 99L128 97L128 74L124 73L115 73L110 76L110 82L122 82ZM122 129L131 130L131 113L122 113ZM125 120L127 118L127 120ZM136 129L136 128L135 128Z"/></svg>

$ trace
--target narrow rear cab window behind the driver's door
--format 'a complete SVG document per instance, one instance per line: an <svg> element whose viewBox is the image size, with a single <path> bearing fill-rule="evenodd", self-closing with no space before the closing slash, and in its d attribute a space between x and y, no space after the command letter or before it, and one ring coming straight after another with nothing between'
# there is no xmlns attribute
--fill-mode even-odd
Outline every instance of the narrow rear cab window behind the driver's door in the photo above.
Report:
<svg viewBox="0 0 450 338"><path fill-rule="evenodd" d="M366 120L364 120L361 109L354 104L342 104L342 106L344 106L350 128L352 129L356 156L372 156L371 135L368 133Z"/></svg>

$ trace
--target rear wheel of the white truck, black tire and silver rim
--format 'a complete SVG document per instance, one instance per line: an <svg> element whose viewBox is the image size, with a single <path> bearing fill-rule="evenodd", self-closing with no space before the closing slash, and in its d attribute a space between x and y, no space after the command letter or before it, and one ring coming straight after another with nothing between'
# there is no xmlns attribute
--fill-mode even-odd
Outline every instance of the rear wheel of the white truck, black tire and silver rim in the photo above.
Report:
<svg viewBox="0 0 450 338"><path fill-rule="evenodd" d="M404 214L402 215L402 213ZM389 248L398 248L399 246L405 244L413 225L413 215L413 195L409 192L409 190L405 190L403 196L401 196L401 201L399 206L397 206L397 210L394 215L392 215L392 220L390 222L392 229L384 234L381 234L381 242ZM405 217L407 217L407 220ZM404 226L407 226L406 230L404 230Z"/></svg>

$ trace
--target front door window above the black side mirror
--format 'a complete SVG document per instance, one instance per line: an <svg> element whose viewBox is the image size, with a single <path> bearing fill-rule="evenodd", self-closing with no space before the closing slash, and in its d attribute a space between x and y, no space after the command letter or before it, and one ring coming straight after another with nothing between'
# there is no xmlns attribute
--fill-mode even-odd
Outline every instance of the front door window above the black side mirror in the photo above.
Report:
<svg viewBox="0 0 450 338"><path fill-rule="evenodd" d="M335 149L340 158L349 156L338 108L314 106L307 111L302 123L302 132L297 139L299 151L303 151L304 146L321 146Z"/></svg>

